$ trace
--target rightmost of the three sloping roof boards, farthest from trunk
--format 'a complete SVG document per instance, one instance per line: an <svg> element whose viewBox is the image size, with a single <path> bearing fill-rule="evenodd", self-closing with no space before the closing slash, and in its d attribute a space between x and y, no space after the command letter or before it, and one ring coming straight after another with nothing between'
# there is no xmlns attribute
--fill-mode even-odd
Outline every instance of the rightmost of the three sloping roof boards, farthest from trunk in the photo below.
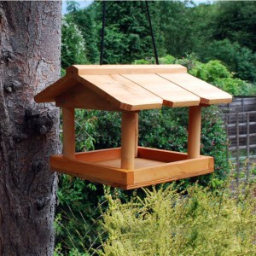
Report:
<svg viewBox="0 0 256 256"><path fill-rule="evenodd" d="M223 90L218 89L212 84L197 79L188 73L158 73L162 78L168 79L172 83L189 90L201 98L201 104L220 104L232 101L232 96Z"/></svg>

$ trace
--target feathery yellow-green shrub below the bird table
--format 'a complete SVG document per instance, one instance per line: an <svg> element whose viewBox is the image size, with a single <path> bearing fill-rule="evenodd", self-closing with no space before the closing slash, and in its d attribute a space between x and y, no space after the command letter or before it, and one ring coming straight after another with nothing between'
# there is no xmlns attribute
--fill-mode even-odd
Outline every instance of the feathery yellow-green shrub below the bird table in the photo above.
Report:
<svg viewBox="0 0 256 256"><path fill-rule="evenodd" d="M100 255L255 255L255 184L236 196L229 187L144 189L127 203L107 190Z"/></svg>

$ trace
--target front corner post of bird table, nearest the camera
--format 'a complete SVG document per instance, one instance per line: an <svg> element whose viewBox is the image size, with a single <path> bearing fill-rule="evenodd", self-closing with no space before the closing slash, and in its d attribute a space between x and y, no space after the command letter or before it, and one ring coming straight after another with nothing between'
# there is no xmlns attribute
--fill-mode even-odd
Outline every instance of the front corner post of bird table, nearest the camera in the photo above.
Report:
<svg viewBox="0 0 256 256"><path fill-rule="evenodd" d="M121 168L126 170L134 169L136 155L136 130L137 113L122 113L122 137L121 137Z"/></svg>

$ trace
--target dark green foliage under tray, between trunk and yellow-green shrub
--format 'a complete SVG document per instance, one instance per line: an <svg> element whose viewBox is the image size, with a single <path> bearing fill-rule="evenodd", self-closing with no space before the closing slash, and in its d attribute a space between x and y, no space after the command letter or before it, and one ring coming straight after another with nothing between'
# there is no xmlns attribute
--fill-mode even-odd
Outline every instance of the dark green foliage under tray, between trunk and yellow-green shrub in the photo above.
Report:
<svg viewBox="0 0 256 256"><path fill-rule="evenodd" d="M103 201L102 186L61 175L58 201L55 217L56 250L60 255L90 255L101 243L98 237L101 229L96 219L100 215L97 207Z"/></svg>

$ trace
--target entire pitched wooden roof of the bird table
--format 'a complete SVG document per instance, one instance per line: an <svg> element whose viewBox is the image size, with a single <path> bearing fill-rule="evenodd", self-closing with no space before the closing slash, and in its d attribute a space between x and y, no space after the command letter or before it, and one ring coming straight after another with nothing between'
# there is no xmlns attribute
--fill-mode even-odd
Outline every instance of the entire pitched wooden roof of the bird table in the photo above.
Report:
<svg viewBox="0 0 256 256"><path fill-rule="evenodd" d="M117 111L231 102L230 94L181 65L76 65L35 96L56 106Z"/></svg>

